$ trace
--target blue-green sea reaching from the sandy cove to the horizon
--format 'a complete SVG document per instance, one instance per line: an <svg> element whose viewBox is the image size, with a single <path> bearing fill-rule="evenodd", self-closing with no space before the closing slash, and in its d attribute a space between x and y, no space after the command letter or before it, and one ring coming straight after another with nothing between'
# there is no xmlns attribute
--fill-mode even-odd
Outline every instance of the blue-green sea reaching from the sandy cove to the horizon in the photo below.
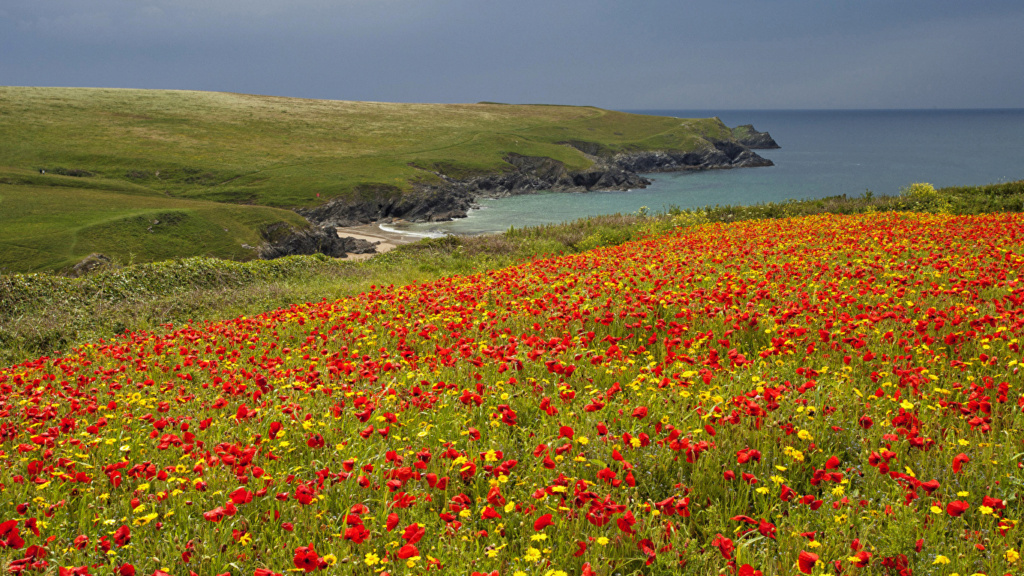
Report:
<svg viewBox="0 0 1024 576"><path fill-rule="evenodd" d="M482 199L466 218L391 224L417 236L487 234L586 216L672 207L749 205L828 196L898 195L1024 179L1024 110L631 110L753 124L781 147L758 150L774 166L647 174L645 189Z"/></svg>

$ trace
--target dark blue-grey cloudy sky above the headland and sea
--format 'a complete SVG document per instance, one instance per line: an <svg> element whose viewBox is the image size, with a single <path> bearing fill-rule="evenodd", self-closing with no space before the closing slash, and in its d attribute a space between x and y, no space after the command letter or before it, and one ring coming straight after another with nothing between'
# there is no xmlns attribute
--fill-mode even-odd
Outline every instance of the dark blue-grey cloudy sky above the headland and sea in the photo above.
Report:
<svg viewBox="0 0 1024 576"><path fill-rule="evenodd" d="M0 0L0 85L1024 108L1020 0Z"/></svg>

